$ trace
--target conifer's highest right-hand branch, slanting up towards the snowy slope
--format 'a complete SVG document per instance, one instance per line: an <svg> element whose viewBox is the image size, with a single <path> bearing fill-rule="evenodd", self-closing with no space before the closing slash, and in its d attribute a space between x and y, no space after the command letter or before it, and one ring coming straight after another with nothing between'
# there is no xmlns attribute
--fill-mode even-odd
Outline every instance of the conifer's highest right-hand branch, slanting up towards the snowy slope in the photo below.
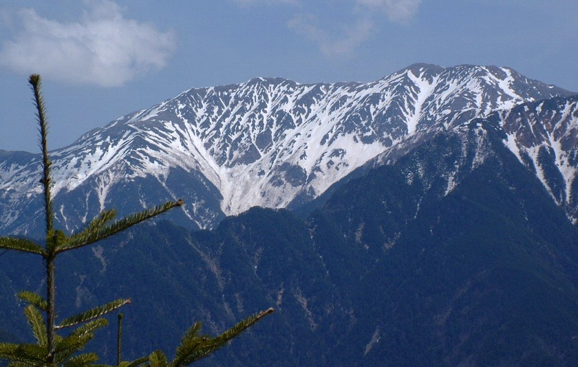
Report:
<svg viewBox="0 0 578 367"><path fill-rule="evenodd" d="M125 229L132 227L133 225L138 224L144 220L156 217L175 207L180 207L182 204L182 200L178 200L176 202L169 201L164 205L158 205L157 207L140 211L139 213L134 213L131 216L117 220L107 227L98 227L96 224L94 227L89 225L89 227L87 227L84 231L76 233L67 238L63 244L56 248L56 253L78 249L79 247L84 247L96 241L103 240L104 238L114 235L120 231L124 231ZM95 220L92 220L91 224L93 222L98 222L98 220L95 218Z"/></svg>

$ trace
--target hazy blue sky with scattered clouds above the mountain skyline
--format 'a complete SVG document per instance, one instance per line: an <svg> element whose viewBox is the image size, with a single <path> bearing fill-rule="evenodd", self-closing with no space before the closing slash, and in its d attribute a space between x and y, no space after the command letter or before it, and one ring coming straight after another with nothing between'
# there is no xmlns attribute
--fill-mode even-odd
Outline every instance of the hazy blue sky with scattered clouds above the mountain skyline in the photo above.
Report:
<svg viewBox="0 0 578 367"><path fill-rule="evenodd" d="M412 63L509 66L578 92L578 1L0 0L0 149L49 144L192 87L374 81Z"/></svg>

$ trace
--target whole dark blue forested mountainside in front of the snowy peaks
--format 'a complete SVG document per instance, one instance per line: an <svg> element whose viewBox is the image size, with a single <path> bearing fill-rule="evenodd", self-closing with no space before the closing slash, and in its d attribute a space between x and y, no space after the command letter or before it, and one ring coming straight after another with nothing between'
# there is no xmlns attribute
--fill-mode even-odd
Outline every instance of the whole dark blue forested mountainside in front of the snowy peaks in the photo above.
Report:
<svg viewBox="0 0 578 367"><path fill-rule="evenodd" d="M127 357L170 353L196 320L223 331L272 306L204 364L575 366L578 228L507 139L497 114L437 134L306 221L253 208L212 231L141 225L63 258L58 302L132 297ZM3 317L21 311L15 290L41 289L8 268ZM108 332L95 346L113 359Z"/></svg>

